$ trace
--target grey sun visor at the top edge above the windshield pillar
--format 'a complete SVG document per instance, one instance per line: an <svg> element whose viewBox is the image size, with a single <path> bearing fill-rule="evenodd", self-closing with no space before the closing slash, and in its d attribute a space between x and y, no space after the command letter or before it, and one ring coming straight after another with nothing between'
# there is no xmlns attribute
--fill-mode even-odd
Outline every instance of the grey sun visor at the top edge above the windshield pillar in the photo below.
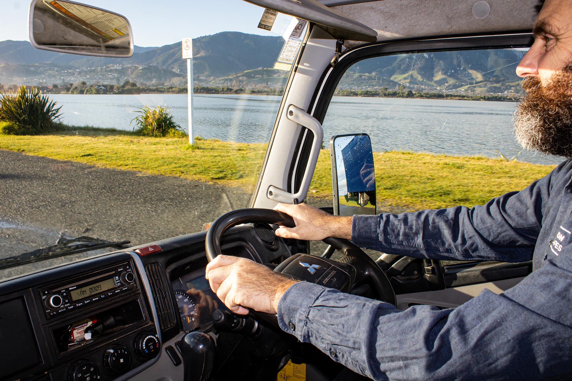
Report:
<svg viewBox="0 0 572 381"><path fill-rule="evenodd" d="M378 33L354 19L321 5L316 0L245 0L323 26L333 37L354 41L376 41Z"/></svg>

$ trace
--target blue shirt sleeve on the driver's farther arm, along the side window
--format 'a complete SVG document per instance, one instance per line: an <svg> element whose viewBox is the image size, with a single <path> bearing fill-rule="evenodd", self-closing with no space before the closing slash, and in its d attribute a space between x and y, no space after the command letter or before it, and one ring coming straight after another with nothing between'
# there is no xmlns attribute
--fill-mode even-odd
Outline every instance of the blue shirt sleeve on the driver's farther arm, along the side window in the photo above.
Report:
<svg viewBox="0 0 572 381"><path fill-rule="evenodd" d="M520 192L473 208L353 216L352 241L385 253L428 259L530 260L549 203L551 181L561 170L562 165Z"/></svg>

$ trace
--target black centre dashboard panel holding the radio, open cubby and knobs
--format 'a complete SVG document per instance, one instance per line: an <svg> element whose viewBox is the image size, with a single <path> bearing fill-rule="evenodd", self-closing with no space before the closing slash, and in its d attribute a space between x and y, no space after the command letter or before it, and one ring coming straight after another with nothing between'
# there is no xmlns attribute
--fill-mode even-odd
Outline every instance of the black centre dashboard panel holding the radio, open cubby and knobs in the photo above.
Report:
<svg viewBox="0 0 572 381"><path fill-rule="evenodd" d="M117 253L0 284L0 380L106 381L149 367L161 339L137 262Z"/></svg>

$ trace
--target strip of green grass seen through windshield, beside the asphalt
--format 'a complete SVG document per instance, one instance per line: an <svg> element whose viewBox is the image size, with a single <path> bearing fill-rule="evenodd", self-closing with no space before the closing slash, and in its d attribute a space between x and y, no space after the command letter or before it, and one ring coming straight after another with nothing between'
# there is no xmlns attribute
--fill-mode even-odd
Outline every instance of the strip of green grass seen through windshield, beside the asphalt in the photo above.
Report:
<svg viewBox="0 0 572 381"><path fill-rule="evenodd" d="M266 144L197 138L143 137L137 133L91 127L40 136L0 136L0 149L105 168L165 174L254 189Z"/></svg>

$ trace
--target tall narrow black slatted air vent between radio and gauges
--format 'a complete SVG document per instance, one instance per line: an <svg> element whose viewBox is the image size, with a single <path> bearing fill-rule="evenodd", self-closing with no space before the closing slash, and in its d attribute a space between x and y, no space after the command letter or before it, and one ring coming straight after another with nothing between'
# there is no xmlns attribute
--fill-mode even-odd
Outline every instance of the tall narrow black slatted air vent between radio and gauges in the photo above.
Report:
<svg viewBox="0 0 572 381"><path fill-rule="evenodd" d="M157 308L157 316L159 318L159 326L161 330L172 328L175 323L175 311L173 308L172 295L169 292L169 286L165 280L165 273L160 264L152 263L145 266L145 272L149 277L151 292L155 300Z"/></svg>

